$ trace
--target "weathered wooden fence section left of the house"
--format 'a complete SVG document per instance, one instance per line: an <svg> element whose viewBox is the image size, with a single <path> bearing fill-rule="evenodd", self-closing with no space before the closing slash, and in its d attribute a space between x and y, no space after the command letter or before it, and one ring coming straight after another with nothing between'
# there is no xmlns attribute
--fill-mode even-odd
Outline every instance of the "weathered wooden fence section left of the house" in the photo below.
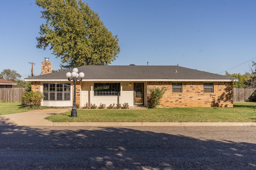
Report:
<svg viewBox="0 0 256 170"><path fill-rule="evenodd" d="M0 88L0 101L21 102L26 88Z"/></svg>

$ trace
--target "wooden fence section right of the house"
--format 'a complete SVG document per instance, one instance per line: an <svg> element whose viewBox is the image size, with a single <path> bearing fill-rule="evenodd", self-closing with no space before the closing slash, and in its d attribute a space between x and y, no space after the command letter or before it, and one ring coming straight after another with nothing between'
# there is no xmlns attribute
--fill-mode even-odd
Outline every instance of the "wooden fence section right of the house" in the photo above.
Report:
<svg viewBox="0 0 256 170"><path fill-rule="evenodd" d="M249 99L252 102L252 94L255 88L233 88L233 102L244 102Z"/></svg>

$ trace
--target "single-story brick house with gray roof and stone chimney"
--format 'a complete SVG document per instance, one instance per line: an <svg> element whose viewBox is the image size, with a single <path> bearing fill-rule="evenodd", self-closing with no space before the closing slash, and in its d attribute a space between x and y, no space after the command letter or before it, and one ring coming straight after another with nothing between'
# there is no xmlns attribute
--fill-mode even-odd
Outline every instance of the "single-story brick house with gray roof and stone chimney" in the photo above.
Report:
<svg viewBox="0 0 256 170"><path fill-rule="evenodd" d="M42 75L25 78L32 90L44 94L42 106L72 107L74 81L67 72L52 72L48 58L42 62ZM158 107L233 107L233 82L238 78L175 66L85 65L85 74L76 82L76 106L124 104L147 106L149 89L164 88Z"/></svg>

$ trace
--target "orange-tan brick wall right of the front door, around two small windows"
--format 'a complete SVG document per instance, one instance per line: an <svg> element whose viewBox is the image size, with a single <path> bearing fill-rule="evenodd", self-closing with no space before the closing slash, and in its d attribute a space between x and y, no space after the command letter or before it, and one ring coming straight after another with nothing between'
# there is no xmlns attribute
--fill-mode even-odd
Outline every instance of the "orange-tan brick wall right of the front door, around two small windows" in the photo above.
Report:
<svg viewBox="0 0 256 170"><path fill-rule="evenodd" d="M232 82L213 82L214 92L204 92L204 82L182 82L182 93L172 93L172 82L148 82L147 88L164 88L158 107L233 107Z"/></svg>

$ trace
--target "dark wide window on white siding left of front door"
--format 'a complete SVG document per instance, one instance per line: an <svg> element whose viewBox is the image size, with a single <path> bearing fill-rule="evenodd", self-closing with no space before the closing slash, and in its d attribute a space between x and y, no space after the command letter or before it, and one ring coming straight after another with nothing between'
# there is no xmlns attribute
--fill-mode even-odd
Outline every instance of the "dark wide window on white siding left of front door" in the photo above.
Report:
<svg viewBox="0 0 256 170"><path fill-rule="evenodd" d="M94 83L94 96L118 96L120 83Z"/></svg>

